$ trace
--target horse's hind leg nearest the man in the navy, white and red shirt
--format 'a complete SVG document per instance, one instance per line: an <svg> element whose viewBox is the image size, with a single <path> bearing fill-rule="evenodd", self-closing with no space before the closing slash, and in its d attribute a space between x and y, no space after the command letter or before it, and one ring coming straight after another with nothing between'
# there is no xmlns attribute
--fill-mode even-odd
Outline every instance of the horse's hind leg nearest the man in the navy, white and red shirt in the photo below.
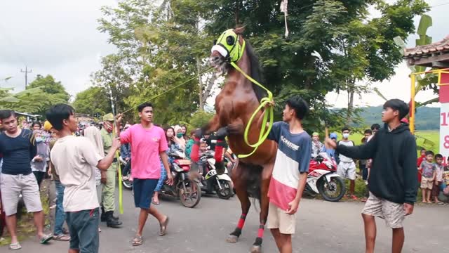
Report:
<svg viewBox="0 0 449 253"><path fill-rule="evenodd" d="M267 223L269 209L268 188L269 181L272 179L273 165L274 162L270 162L269 164L265 165L264 169L262 170L262 180L260 181L260 225L257 231L257 238L255 238L253 247L251 247L251 253L262 252L262 240L264 237L264 228L265 223Z"/></svg>

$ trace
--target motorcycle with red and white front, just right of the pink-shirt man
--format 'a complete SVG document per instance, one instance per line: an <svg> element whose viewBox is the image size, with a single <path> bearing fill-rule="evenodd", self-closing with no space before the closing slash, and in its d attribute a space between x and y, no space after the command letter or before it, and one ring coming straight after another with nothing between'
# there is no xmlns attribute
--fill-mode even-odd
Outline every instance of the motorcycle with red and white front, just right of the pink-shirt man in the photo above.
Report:
<svg viewBox="0 0 449 253"><path fill-rule="evenodd" d="M170 164L170 173L173 176L173 185L164 183L161 188L161 195L176 197L185 207L196 207L201 200L201 188L199 183L189 178L190 160L185 159L185 154L180 151L168 153L168 157L173 159Z"/></svg>

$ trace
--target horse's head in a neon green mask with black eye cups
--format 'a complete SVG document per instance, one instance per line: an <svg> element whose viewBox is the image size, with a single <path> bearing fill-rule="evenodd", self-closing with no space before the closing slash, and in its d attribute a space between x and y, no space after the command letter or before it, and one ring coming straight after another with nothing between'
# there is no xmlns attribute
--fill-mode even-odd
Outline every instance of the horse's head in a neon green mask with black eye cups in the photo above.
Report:
<svg viewBox="0 0 449 253"><path fill-rule="evenodd" d="M217 72L227 72L229 63L236 63L243 56L245 51L245 40L241 36L243 30L243 27L226 30L214 41L209 60Z"/></svg>

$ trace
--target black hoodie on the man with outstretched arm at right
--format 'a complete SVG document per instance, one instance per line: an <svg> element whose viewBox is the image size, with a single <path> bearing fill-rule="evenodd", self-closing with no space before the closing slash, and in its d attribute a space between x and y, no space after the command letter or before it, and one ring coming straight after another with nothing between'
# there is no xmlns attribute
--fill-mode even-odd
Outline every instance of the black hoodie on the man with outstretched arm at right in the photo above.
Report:
<svg viewBox="0 0 449 253"><path fill-rule="evenodd" d="M416 141L408 124L392 131L385 124L368 143L356 147L339 145L337 152L355 159L373 159L368 188L376 197L401 204L416 202Z"/></svg>

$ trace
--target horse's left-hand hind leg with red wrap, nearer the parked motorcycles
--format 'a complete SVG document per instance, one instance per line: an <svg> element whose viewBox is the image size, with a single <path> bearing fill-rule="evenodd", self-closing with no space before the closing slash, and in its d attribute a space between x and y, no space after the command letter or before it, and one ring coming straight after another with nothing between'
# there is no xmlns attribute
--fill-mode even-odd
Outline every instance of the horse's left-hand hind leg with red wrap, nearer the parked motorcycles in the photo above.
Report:
<svg viewBox="0 0 449 253"><path fill-rule="evenodd" d="M246 188L246 179L241 176L241 165L234 169L234 173L232 174L232 182L234 183L234 189L236 190L236 195L239 197L240 205L241 205L241 216L239 219L239 223L237 223L236 229L232 232L228 238L227 242L235 243L239 240L241 235L241 230L245 225L246 215L248 214L251 206L250 198L248 196L247 188Z"/></svg>

